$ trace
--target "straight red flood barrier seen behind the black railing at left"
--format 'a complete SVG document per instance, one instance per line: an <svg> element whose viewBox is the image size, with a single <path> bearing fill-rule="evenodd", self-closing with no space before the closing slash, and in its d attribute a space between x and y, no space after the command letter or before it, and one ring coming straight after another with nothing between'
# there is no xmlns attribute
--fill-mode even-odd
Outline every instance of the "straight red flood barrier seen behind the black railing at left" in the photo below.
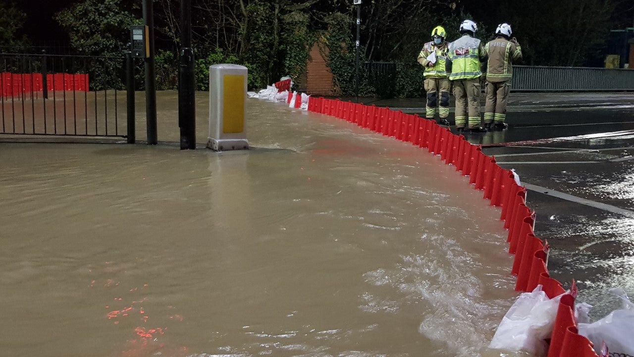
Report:
<svg viewBox="0 0 634 357"><path fill-rule="evenodd" d="M3 97L21 97L24 93L44 90L41 73L0 74L0 95ZM89 91L88 74L49 73L46 75L48 91Z"/></svg>

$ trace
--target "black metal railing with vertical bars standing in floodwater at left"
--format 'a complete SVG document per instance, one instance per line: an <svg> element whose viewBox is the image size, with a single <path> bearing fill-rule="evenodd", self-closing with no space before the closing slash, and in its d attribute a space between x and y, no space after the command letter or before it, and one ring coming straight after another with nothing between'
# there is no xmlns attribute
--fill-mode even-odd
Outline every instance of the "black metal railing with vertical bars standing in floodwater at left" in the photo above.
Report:
<svg viewBox="0 0 634 357"><path fill-rule="evenodd" d="M0 134L126 137L126 58L0 53Z"/></svg>

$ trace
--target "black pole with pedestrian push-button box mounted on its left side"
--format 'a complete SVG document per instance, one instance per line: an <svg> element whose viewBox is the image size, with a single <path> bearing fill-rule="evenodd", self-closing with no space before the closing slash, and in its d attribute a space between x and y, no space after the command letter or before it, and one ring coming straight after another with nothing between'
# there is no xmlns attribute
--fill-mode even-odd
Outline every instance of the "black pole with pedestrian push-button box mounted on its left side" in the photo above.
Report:
<svg viewBox="0 0 634 357"><path fill-rule="evenodd" d="M148 144L155 145L157 138L157 91L154 72L154 0L143 0L143 24L147 41L145 58L145 115L148 126Z"/></svg>

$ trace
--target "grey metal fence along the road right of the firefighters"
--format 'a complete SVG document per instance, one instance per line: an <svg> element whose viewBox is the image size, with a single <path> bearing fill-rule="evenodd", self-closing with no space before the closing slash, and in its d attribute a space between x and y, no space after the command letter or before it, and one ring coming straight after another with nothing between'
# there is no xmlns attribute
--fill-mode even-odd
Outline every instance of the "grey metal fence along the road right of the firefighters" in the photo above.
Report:
<svg viewBox="0 0 634 357"><path fill-rule="evenodd" d="M513 66L512 90L618 91L634 90L634 70L590 67Z"/></svg>

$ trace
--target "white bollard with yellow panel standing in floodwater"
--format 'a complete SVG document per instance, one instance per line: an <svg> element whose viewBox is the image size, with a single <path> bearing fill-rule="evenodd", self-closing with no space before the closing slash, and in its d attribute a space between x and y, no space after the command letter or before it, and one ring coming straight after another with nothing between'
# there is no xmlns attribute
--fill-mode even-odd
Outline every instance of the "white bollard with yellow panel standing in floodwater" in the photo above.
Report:
<svg viewBox="0 0 634 357"><path fill-rule="evenodd" d="M249 149L245 131L246 100L247 67L235 64L209 67L209 149Z"/></svg>

